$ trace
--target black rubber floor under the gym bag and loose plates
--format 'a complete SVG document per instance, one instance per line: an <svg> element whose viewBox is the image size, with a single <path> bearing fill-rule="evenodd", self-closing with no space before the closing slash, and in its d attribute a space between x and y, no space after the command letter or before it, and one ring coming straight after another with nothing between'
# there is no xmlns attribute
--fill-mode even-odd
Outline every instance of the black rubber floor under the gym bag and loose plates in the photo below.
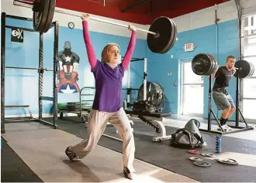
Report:
<svg viewBox="0 0 256 183"><path fill-rule="evenodd" d="M61 130L78 137L86 138L87 136L87 129L84 127L85 124L81 124L78 117L65 117L64 120L58 120L58 125L61 127ZM196 155L189 154L187 152L188 150L171 147L169 146L169 141L160 143L152 142L152 137L155 134L154 128L145 123L137 123L136 121L134 121L133 128L136 144L135 157L137 159L202 182L256 181L255 167L240 164L238 166L230 166L217 163L213 160L207 160L212 164L211 167L200 168L192 164L192 161L189 160L189 157ZM173 133L175 130L175 127L167 127L168 134ZM112 126L106 127L104 134L119 137L116 134L115 127ZM207 142L207 147L203 150L208 153L214 153L216 135L202 134L202 137ZM233 137L223 137L222 141L222 151L256 154L255 141ZM122 142L112 140L108 137L102 136L98 144L113 151L122 152Z"/></svg>

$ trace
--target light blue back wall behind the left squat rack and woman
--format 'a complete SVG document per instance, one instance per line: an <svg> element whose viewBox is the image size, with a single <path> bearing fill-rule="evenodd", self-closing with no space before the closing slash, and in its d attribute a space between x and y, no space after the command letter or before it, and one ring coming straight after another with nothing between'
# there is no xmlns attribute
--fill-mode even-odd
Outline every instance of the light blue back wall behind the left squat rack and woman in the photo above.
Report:
<svg viewBox="0 0 256 183"><path fill-rule="evenodd" d="M33 29L31 22L6 19L6 25L13 25ZM121 47L122 56L130 38L113 36L99 32L90 32L91 39L95 46L95 52L100 59L102 48L108 42L116 42ZM88 57L85 49L85 42L81 29L69 29L60 27L59 51L63 49L64 42L70 41L72 51L80 56L78 69L80 88L83 86L94 86L94 77L90 71ZM39 33L24 32L24 42L11 42L11 29L6 29L5 38L5 66L28 66L38 67L39 65ZM146 42L137 39L137 46L133 57L141 58L146 56ZM54 58L54 29L50 29L43 35L43 66L53 68ZM139 87L143 80L144 63L131 63L131 87ZM127 72L123 79L123 87L127 85ZM43 96L53 96L53 73L43 73ZM123 92L126 96L126 92ZM133 97L134 98L134 97ZM78 93L58 93L58 103L78 101ZM5 69L5 105L30 105L33 114L38 114L38 73L36 70ZM52 103L43 101L43 114L51 113ZM28 114L26 110L5 110L5 115Z"/></svg>

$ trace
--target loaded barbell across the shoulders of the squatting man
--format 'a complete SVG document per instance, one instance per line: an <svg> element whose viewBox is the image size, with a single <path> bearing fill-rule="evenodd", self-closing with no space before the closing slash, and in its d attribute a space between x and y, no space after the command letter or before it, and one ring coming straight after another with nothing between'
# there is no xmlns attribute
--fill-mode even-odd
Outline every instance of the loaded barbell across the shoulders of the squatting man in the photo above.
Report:
<svg viewBox="0 0 256 183"><path fill-rule="evenodd" d="M235 77L239 78L250 78L254 75L254 65L246 60L238 60L235 65L237 72L234 74ZM195 74L200 76L209 76L216 73L219 68L217 60L214 56L208 53L199 53L192 59L192 70Z"/></svg>

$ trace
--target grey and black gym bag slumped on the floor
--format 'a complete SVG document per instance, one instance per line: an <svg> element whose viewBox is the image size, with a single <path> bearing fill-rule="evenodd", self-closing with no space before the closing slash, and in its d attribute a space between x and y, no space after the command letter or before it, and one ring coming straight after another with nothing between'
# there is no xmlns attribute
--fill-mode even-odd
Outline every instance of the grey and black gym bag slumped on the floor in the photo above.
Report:
<svg viewBox="0 0 256 183"><path fill-rule="evenodd" d="M189 120L184 128L178 129L174 134L171 134L170 146L188 149L202 148L203 140L199 127L198 120Z"/></svg>

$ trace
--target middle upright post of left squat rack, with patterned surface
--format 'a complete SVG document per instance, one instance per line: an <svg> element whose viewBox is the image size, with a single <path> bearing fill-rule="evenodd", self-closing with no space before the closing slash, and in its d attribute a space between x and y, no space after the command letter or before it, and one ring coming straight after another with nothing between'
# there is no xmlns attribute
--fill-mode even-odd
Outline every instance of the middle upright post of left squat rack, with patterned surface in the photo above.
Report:
<svg viewBox="0 0 256 183"><path fill-rule="evenodd" d="M40 43L39 43L39 68L43 68L43 32L40 32ZM43 117L43 73L38 70L39 81L38 81L38 110L39 110L39 120L42 120Z"/></svg>

